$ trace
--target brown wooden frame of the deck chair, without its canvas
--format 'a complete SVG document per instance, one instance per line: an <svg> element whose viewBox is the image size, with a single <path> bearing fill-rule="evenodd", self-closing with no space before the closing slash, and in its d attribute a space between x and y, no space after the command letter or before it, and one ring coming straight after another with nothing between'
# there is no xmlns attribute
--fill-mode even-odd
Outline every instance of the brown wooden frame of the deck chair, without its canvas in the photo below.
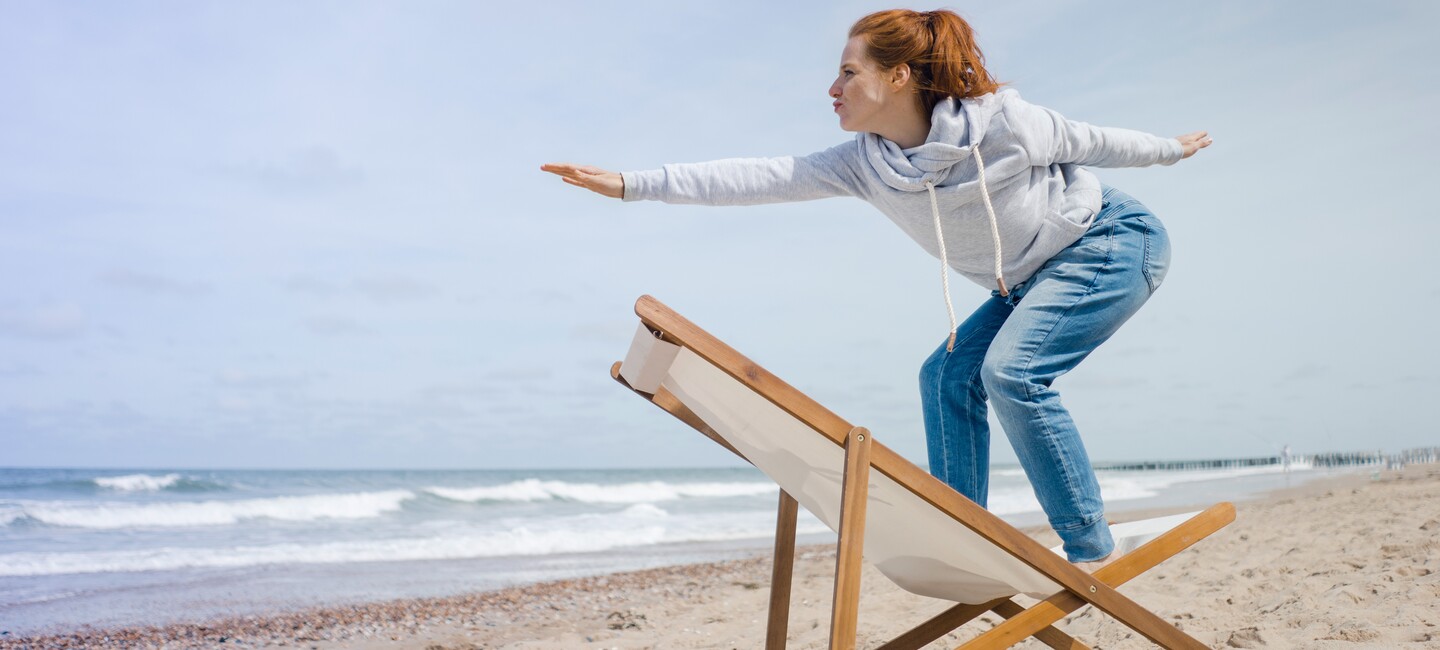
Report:
<svg viewBox="0 0 1440 650"><path fill-rule="evenodd" d="M880 649L920 649L989 611L1005 618L1005 621L959 647L966 650L1004 649L1028 637L1035 637L1054 649L1086 649L1089 646L1051 627L1084 605L1094 605L1161 647L1205 647L1152 611L1119 594L1115 588L1233 522L1236 517L1233 504L1220 503L1211 506L1094 574L1087 574L932 477L920 467L904 460L897 453L876 442L865 428L854 427L832 414L658 300L642 295L635 303L635 314L661 340L693 350L770 404L844 448L845 468L835 553L834 601L831 605L831 650L850 650L855 646L865 526L865 491L870 471L880 471L888 476L930 506L969 527L989 543L999 546L1063 588L1056 595L1028 608L1021 607L1011 598L996 598L984 604L958 604L880 646ZM611 376L626 388L631 388L621 376L621 362L611 366ZM632 391L744 458L743 454L664 388L658 388L654 393L635 391L634 388ZM783 649L788 636L798 510L798 502L780 490L766 650Z"/></svg>

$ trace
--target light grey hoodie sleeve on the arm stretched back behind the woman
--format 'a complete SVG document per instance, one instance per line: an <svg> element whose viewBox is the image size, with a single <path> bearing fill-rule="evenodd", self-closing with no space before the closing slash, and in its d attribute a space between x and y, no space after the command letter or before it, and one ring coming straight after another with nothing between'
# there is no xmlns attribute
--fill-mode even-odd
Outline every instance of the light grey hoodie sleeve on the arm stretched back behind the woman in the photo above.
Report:
<svg viewBox="0 0 1440 650"><path fill-rule="evenodd" d="M1034 166L1146 167L1175 164L1185 153L1179 140L1070 121L1020 97L1008 98L1004 111Z"/></svg>

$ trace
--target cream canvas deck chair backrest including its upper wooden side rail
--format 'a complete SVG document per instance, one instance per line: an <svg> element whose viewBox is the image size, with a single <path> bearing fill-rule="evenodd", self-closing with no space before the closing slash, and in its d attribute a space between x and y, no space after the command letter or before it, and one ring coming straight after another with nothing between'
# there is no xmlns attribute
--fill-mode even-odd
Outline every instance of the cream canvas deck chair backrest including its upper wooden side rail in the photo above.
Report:
<svg viewBox="0 0 1440 650"><path fill-rule="evenodd" d="M642 323L636 331L621 376L636 391L668 391L734 451L838 530L844 448L832 429L848 431L848 424L703 330L667 329L684 330L688 321L657 323L674 316L665 311L642 314L649 326ZM873 467L880 471L870 473L864 555L896 585L958 602L1060 591L1054 581L972 529L976 523L994 527L998 520L992 515L971 504L976 519L992 520L968 526L937 509L927 491L959 494L888 450L877 454L880 450L884 447L873 442ZM899 468L899 463L909 467Z"/></svg>

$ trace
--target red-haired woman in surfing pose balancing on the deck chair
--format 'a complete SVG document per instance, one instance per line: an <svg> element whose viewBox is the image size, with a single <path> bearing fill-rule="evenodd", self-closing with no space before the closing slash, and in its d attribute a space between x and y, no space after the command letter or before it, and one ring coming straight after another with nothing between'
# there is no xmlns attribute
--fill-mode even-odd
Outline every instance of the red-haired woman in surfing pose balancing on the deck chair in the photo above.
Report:
<svg viewBox="0 0 1440 650"><path fill-rule="evenodd" d="M1211 144L1073 123L985 71L952 12L860 19L829 88L855 140L805 157L612 173L541 169L625 200L752 205L857 196L940 258L950 336L920 369L930 473L985 506L986 405L1005 429L1071 562L1115 548L1080 434L1053 382L1151 297L1169 264L1161 222L1081 166L1174 164ZM956 326L948 268L991 287Z"/></svg>

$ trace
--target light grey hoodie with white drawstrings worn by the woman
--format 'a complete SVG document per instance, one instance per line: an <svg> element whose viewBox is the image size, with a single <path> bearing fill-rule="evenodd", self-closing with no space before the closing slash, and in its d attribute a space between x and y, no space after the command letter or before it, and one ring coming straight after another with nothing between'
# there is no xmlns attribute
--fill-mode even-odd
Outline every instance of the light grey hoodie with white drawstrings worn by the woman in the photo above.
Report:
<svg viewBox="0 0 1440 650"><path fill-rule="evenodd" d="M622 176L625 200L756 205L857 196L937 258L940 229L950 268L995 288L1001 275L1002 285L1028 280L1090 228L1100 182L1081 166L1174 164L1182 154L1178 140L1068 121L1004 89L936 104L930 135L913 148L861 133L805 157L667 164Z"/></svg>

